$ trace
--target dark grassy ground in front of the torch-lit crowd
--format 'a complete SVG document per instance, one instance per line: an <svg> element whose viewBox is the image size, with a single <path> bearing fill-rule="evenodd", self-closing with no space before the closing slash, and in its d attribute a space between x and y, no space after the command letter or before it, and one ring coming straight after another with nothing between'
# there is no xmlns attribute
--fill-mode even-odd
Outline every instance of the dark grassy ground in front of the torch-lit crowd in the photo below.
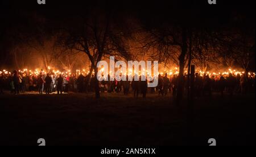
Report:
<svg viewBox="0 0 256 157"><path fill-rule="evenodd" d="M120 94L0 96L0 145L163 146L255 145L255 94L196 99L187 118L187 101L150 94L134 99ZM187 121L189 119L189 121ZM188 122L192 129L188 129Z"/></svg>

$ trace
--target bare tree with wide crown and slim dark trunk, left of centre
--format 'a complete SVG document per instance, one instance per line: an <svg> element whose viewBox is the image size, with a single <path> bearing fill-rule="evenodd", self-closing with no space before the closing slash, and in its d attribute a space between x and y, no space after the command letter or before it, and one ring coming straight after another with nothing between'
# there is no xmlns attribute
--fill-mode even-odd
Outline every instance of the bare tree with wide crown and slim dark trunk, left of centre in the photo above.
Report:
<svg viewBox="0 0 256 157"><path fill-rule="evenodd" d="M109 11L102 13L102 10L94 9L90 15L81 14L79 18L66 24L60 34L60 46L83 52L88 56L91 64L89 76L92 75L93 70L98 73L97 63L103 57L110 55L125 59L130 57L124 33L116 27ZM95 88L96 98L100 98L97 79Z"/></svg>

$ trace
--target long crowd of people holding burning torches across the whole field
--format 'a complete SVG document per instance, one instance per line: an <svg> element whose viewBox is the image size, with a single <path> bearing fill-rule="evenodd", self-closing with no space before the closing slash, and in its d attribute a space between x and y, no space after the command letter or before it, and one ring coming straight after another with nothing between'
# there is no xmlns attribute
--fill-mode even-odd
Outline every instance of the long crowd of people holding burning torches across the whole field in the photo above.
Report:
<svg viewBox="0 0 256 157"><path fill-rule="evenodd" d="M142 76L143 77L143 76ZM185 75L184 91L187 91L188 76ZM158 76L158 86L156 88L148 88L147 80L139 77L139 81L101 81L98 82L94 75L62 75L55 73L45 73L43 70L36 74L26 72L20 73L1 73L0 76L0 94L4 90L9 90L11 94L19 94L20 92L38 92L39 94L50 94L57 92L63 94L68 92L87 93L95 92L96 84L100 88L100 92L105 93L121 93L128 95L132 93L134 97L146 97L147 93L158 93L159 96L167 96L172 94L176 96L178 86L178 76ZM128 80L128 76L127 76ZM255 92L255 75L238 74L233 75L207 75L201 76L195 73L193 80L194 95L196 97L212 95L212 92L233 95L234 93L253 93Z"/></svg>

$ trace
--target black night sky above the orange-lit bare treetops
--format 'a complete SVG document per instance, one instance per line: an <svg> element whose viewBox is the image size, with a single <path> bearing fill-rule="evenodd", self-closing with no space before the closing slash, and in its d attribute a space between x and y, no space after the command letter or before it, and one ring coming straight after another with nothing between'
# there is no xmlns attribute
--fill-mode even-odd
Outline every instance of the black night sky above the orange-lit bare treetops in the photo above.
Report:
<svg viewBox="0 0 256 157"><path fill-rule="evenodd" d="M217 5L209 5L208 0L46 0L46 5L38 5L37 0L0 2L0 61L5 58L7 49L11 46L9 33L30 30L34 20L31 16L34 14L57 21L86 11L89 13L94 7L98 7L112 10L119 19L137 18L148 26L152 23L185 21L188 27L189 24L200 26L205 23L213 27L229 24L233 27L229 23L230 19L242 15L247 26L255 28L255 0L217 0Z"/></svg>

